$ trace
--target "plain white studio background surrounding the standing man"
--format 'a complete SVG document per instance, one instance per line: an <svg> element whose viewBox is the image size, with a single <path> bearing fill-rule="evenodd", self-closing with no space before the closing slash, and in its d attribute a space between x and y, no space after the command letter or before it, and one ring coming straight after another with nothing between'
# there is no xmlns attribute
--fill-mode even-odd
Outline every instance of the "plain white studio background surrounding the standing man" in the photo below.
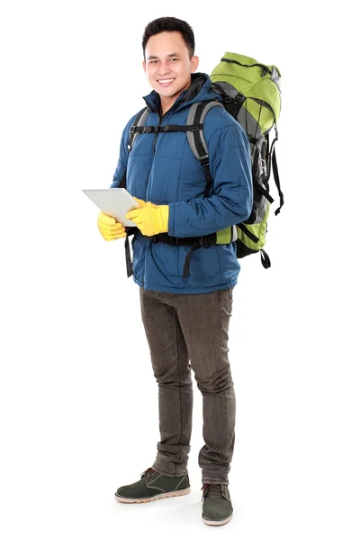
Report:
<svg viewBox="0 0 360 540"><path fill-rule="evenodd" d="M191 495L113 500L153 463L157 384L123 240L100 237L81 192L112 182L151 90L142 32L167 15L193 26L200 71L230 51L282 73L285 204L269 220L272 268L247 257L234 292L234 518L217 533L201 521L196 386ZM350 2L2 4L4 539L359 539L356 35Z"/></svg>

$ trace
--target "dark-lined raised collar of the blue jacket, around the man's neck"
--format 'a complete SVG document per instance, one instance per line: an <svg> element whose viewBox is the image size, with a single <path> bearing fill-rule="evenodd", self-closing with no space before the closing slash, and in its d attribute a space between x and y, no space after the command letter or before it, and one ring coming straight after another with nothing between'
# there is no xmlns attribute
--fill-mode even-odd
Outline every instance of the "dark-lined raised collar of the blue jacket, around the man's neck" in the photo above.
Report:
<svg viewBox="0 0 360 540"><path fill-rule="evenodd" d="M211 90L211 80L206 73L193 73L191 76L191 85L184 90L172 105L171 110L178 111L183 106L189 106L195 102L208 101L211 99L220 100L219 94ZM143 97L148 107L154 111L160 112L160 96L155 90Z"/></svg>

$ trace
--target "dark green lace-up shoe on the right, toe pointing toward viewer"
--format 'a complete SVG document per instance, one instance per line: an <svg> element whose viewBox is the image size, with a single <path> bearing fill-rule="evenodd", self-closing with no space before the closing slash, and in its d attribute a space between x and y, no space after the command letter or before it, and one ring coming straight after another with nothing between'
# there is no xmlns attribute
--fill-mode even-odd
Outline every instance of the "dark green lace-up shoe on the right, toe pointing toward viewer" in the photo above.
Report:
<svg viewBox="0 0 360 540"><path fill-rule="evenodd" d="M202 484L202 521L206 525L225 525L232 518L232 504L226 484Z"/></svg>

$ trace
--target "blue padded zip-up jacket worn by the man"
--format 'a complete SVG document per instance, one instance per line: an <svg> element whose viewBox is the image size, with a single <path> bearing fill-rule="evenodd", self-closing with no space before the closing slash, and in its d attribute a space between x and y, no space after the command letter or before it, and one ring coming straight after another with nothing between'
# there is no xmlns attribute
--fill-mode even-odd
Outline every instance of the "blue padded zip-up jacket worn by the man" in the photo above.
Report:
<svg viewBox="0 0 360 540"><path fill-rule="evenodd" d="M195 102L219 99L211 91L209 76L197 73L192 85L160 118L160 99L153 91L144 97L150 113L146 125L185 125ZM126 169L126 188L131 195L156 204L168 204L168 234L177 238L202 237L250 215L253 191L247 134L222 107L213 107L205 117L203 132L209 148L213 187L203 198L206 178L193 156L186 133L139 134L129 152L129 132L134 115L122 132L120 157L111 187L119 187ZM238 282L240 265L236 244L199 247L193 250L190 276L183 278L190 247L154 244L145 237L131 240L133 279L146 290L198 294L229 289Z"/></svg>

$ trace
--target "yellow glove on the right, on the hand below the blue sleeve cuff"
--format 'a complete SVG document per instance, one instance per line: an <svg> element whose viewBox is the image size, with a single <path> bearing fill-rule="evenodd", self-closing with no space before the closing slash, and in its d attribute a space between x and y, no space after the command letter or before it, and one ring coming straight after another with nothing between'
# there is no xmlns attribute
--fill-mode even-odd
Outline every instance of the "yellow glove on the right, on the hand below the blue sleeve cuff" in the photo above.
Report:
<svg viewBox="0 0 360 540"><path fill-rule="evenodd" d="M168 205L157 206L146 202L141 208L128 211L126 219L137 224L144 236L154 236L168 231Z"/></svg>

